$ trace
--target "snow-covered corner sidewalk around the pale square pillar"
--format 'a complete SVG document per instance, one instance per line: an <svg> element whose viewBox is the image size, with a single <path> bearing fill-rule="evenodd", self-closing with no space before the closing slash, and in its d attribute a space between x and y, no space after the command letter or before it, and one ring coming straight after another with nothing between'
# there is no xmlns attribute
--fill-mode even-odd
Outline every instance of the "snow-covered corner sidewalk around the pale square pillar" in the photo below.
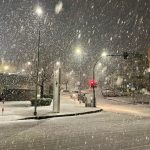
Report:
<svg viewBox="0 0 150 150"><path fill-rule="evenodd" d="M5 121L16 121L24 119L46 119L53 117L75 116L102 111L100 108L85 107L84 103L79 104L69 96L61 96L60 113L53 113L53 103L50 106L37 107L37 117L33 116L34 107L30 101L6 101L4 112L2 113L3 104L0 102L0 123Z"/></svg>

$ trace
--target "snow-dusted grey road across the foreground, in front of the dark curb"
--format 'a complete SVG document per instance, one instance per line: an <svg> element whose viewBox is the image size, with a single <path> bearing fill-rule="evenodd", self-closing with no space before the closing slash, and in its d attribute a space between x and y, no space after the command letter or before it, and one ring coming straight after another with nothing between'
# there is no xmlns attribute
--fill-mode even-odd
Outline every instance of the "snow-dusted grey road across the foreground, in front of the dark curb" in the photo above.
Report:
<svg viewBox="0 0 150 150"><path fill-rule="evenodd" d="M0 124L0 150L150 150L150 118L97 114Z"/></svg>

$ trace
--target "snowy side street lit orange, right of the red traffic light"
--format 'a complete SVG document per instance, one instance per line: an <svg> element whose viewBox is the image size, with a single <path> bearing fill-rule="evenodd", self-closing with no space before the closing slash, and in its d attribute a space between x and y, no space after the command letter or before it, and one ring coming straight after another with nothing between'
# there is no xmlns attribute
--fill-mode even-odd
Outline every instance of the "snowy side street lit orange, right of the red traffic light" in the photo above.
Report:
<svg viewBox="0 0 150 150"><path fill-rule="evenodd" d="M97 107L109 112L150 117L150 105L130 103L130 97L104 98L102 96L97 96Z"/></svg>

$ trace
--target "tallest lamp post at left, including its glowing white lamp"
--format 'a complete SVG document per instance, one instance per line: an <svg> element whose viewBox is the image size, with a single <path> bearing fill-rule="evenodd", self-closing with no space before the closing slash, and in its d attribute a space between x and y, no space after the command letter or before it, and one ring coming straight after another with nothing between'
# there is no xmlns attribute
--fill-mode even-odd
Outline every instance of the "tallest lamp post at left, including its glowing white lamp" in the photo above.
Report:
<svg viewBox="0 0 150 150"><path fill-rule="evenodd" d="M34 103L34 116L37 116L37 99L38 99L38 84L39 84L39 61L40 61L40 17L43 14L43 10L40 6L37 6L35 10L38 16L38 48L37 48L37 66L36 66L36 87L35 87L35 103Z"/></svg>

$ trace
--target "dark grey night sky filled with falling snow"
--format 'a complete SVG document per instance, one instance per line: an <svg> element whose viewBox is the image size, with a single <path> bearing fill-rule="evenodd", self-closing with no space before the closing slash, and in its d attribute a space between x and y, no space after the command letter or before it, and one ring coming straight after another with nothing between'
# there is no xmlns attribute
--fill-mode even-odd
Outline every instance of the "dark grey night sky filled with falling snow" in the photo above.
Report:
<svg viewBox="0 0 150 150"><path fill-rule="evenodd" d="M56 14L59 2L63 10ZM41 59L61 57L71 67L78 46L85 62L92 63L103 49L145 53L150 45L149 0L41 0L39 4L44 10ZM36 5L37 0L0 1L0 57L6 61L25 63L36 58Z"/></svg>

